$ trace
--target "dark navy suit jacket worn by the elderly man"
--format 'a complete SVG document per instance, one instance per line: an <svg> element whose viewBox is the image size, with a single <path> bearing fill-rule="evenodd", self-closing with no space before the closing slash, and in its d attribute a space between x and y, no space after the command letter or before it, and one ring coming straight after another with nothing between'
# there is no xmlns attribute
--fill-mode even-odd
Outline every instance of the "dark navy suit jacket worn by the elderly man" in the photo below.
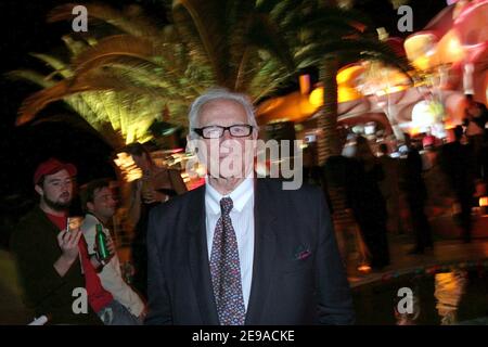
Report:
<svg viewBox="0 0 488 347"><path fill-rule="evenodd" d="M150 215L147 324L219 324L208 265L205 187ZM352 301L320 190L258 179L245 323L349 324Z"/></svg>

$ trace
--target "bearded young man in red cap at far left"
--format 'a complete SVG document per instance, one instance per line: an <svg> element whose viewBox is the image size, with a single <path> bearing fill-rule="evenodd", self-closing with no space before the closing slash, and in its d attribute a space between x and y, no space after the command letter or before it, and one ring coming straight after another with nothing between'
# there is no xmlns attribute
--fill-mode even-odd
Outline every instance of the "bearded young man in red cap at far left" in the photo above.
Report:
<svg viewBox="0 0 488 347"><path fill-rule="evenodd" d="M74 310L77 307L74 301L86 288L90 273L86 261L86 271L81 270L81 231L79 228L66 231L75 176L74 165L54 158L37 167L34 188L39 194L39 205L15 229L11 249L27 306L36 317L48 316L51 324L102 324L88 303L86 309L78 307L80 312Z"/></svg>

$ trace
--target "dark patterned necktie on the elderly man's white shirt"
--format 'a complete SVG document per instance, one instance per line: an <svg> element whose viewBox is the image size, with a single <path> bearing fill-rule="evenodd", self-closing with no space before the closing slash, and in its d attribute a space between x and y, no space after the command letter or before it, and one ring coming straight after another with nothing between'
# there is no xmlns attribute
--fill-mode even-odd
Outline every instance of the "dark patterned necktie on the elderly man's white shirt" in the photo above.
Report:
<svg viewBox="0 0 488 347"><path fill-rule="evenodd" d="M217 313L221 325L244 325L246 310L242 294L237 239L230 211L232 198L220 201L220 218L215 227L210 255L210 274Z"/></svg>

